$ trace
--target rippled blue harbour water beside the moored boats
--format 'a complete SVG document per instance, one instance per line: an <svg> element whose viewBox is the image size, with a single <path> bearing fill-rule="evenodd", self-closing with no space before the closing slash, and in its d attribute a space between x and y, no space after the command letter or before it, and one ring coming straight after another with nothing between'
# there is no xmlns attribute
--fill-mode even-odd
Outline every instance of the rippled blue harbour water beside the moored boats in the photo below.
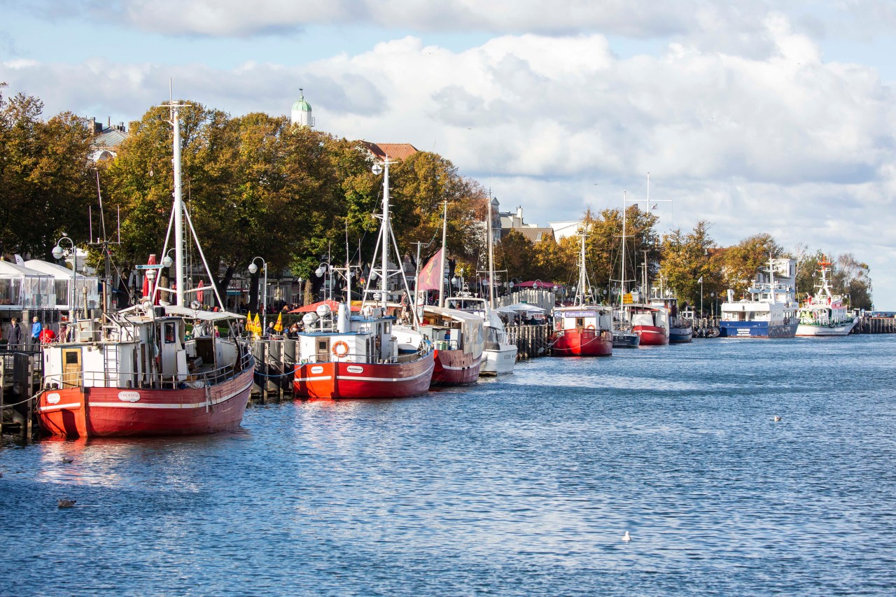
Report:
<svg viewBox="0 0 896 597"><path fill-rule="evenodd" d="M894 359L706 340L0 447L0 593L893 594Z"/></svg>

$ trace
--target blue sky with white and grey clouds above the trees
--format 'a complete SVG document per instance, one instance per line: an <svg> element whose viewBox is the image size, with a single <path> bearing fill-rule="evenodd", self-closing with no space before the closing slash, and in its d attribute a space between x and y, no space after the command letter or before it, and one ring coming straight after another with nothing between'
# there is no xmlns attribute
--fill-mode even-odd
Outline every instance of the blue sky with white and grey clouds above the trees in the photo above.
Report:
<svg viewBox="0 0 896 597"><path fill-rule="evenodd" d="M440 152L528 223L671 200L851 252L896 309L896 3L883 0L0 0L6 92L113 122L175 94ZM674 206L674 207L673 207Z"/></svg>

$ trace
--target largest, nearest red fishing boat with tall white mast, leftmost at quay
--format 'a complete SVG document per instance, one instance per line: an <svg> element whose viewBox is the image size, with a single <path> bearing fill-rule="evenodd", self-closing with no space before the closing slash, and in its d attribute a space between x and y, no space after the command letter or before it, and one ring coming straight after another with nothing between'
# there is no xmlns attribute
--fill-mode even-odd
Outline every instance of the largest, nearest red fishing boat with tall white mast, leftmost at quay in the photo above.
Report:
<svg viewBox="0 0 896 597"><path fill-rule="evenodd" d="M155 285L143 304L101 319L77 321L73 310L72 337L44 345L38 414L41 427L55 436L212 433L237 428L243 420L254 359L230 325L242 316L200 311L198 302L184 307L191 290L185 283L182 222L189 214L181 200L178 106L171 110L176 286ZM168 255L168 242L162 255ZM170 264L149 265L146 271L154 274ZM159 290L172 294L176 304L153 305Z"/></svg>

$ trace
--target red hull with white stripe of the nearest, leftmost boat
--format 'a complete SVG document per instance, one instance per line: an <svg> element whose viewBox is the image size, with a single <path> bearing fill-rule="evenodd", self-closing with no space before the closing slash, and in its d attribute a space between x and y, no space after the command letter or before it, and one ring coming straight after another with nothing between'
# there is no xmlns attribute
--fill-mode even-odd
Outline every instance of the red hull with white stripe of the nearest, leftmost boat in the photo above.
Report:
<svg viewBox="0 0 896 597"><path fill-rule="evenodd" d="M239 427L253 370L208 388L73 387L40 395L41 426L59 437L178 436Z"/></svg>

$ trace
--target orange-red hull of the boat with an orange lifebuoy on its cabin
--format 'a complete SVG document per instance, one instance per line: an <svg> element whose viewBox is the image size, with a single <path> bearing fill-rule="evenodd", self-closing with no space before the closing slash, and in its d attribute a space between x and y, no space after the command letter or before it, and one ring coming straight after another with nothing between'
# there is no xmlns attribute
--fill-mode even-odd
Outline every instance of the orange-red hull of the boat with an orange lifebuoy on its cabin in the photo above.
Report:
<svg viewBox="0 0 896 597"><path fill-rule="evenodd" d="M306 363L293 389L304 398L409 398L426 394L433 368L433 352L409 363Z"/></svg>

